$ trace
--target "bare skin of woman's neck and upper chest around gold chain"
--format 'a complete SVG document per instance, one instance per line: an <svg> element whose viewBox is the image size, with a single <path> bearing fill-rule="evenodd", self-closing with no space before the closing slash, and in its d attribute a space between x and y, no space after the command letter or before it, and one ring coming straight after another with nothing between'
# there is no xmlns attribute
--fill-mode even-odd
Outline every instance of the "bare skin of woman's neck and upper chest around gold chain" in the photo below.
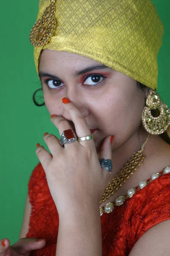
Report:
<svg viewBox="0 0 170 256"><path fill-rule="evenodd" d="M140 150L147 136L148 134L145 131L142 131L140 136L139 133L138 135L134 134L134 137L112 152L113 169L108 184L118 175L127 161L130 160L133 153ZM147 180L154 173L161 172L163 168L170 166L170 145L160 136L150 135L142 154L145 159L138 169L110 198L102 202L100 206L104 206L108 202L114 202L118 196L126 195L128 189L138 186L140 181Z"/></svg>

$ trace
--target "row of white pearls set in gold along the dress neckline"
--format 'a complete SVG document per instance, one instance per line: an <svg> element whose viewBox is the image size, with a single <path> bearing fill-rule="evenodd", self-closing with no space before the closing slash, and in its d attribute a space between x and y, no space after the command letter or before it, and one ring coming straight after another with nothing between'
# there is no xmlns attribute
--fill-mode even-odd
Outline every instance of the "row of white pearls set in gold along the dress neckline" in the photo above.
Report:
<svg viewBox="0 0 170 256"><path fill-rule="evenodd" d="M124 204L124 201L127 198L132 198L133 195L135 195L135 193L138 190L143 189L145 186L147 186L153 180L156 180L158 177L165 175L167 173L170 173L170 166L165 167L161 172L154 173L153 175L151 175L151 177L148 180L142 180L141 182L139 182L139 185L137 187L129 189L127 191L126 196L121 195L118 198L116 198L114 203L109 202L104 207L100 207L100 215L103 215L104 212L105 213L112 212L112 210L114 209L115 206L121 206L122 204Z"/></svg>

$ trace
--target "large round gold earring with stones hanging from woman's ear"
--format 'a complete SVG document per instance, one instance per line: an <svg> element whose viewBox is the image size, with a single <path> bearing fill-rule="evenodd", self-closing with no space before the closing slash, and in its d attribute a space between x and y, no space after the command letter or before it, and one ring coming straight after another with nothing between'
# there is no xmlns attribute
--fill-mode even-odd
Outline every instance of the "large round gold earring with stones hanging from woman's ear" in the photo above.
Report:
<svg viewBox="0 0 170 256"><path fill-rule="evenodd" d="M156 110L159 115L154 117L151 110ZM170 125L170 110L161 101L158 93L152 89L150 89L146 99L146 106L142 113L142 123L146 131L153 135L164 133Z"/></svg>

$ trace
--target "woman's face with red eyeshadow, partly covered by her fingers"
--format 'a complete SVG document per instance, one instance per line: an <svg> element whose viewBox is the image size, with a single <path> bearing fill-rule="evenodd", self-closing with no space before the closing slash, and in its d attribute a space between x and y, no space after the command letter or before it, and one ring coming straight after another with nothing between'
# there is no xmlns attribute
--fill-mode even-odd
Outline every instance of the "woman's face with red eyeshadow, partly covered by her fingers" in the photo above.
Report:
<svg viewBox="0 0 170 256"><path fill-rule="evenodd" d="M90 129L97 129L97 151L105 137L114 135L112 148L125 143L141 124L146 93L136 80L89 58L45 49L39 65L46 107L74 124L62 99L71 100L86 118Z"/></svg>

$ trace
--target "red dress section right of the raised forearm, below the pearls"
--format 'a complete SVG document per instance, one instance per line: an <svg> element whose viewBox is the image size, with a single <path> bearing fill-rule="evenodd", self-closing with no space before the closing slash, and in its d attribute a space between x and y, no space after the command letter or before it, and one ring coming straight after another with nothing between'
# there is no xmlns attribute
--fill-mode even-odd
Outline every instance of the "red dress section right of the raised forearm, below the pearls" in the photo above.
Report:
<svg viewBox="0 0 170 256"><path fill-rule="evenodd" d="M147 230L170 220L170 167L151 176L133 188L131 197L124 195L123 204L114 205L111 213L101 216L104 246L112 244L114 250L119 250L116 255L125 255L120 251L129 255Z"/></svg>

